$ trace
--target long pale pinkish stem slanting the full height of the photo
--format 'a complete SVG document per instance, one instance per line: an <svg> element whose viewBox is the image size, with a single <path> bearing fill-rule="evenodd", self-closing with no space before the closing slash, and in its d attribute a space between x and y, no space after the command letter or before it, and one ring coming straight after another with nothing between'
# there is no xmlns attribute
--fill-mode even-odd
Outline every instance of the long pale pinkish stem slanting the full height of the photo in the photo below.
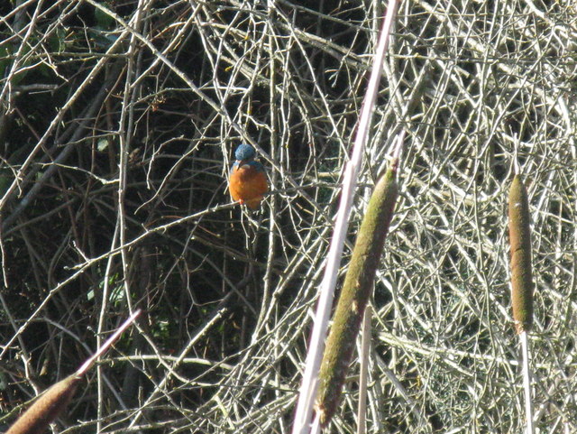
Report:
<svg viewBox="0 0 577 434"><path fill-rule="evenodd" d="M308 346L309 349L303 381L299 389L297 411L292 429L293 434L305 434L309 432L309 420L313 412L318 387L318 370L325 349L326 330L328 328L329 314L333 304L336 274L339 270L341 257L343 255L344 237L348 229L357 175L361 168L364 145L369 135L369 126L371 124L380 76L382 74L382 64L385 58L385 52L389 46L389 32L397 13L397 5L398 2L396 0L391 0L389 8L387 9L387 15L385 16L380 31L379 46L377 47L372 63L371 78L362 104L361 117L353 145L353 155L344 170L341 201L334 225L333 239L331 240L331 246L326 258L325 274L319 289L320 295L317 301L315 326L310 338L310 345Z"/></svg>

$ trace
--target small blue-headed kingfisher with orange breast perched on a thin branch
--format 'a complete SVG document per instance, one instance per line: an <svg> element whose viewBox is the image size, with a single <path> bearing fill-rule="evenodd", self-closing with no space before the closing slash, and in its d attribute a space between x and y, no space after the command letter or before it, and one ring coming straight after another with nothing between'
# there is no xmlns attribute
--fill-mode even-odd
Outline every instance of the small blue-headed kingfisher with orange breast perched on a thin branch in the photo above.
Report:
<svg viewBox="0 0 577 434"><path fill-rule="evenodd" d="M267 175L260 162L254 161L254 148L250 144L240 144L234 152L236 161L231 169L229 189L233 200L238 200L248 208L258 209L269 189Z"/></svg>

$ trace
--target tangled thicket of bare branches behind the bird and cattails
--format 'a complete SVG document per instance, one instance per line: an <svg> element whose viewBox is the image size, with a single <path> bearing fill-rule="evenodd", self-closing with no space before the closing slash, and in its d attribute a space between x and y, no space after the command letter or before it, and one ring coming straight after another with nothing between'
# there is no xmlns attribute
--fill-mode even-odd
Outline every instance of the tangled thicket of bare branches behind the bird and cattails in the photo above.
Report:
<svg viewBox="0 0 577 434"><path fill-rule="evenodd" d="M289 432L385 6L0 6L1 423L138 307L56 430ZM370 432L521 432L515 149L534 224L536 426L577 431L575 41L572 2L400 6L349 239L405 129ZM250 141L272 190L252 214L226 191ZM334 432L355 426L354 375L345 388Z"/></svg>

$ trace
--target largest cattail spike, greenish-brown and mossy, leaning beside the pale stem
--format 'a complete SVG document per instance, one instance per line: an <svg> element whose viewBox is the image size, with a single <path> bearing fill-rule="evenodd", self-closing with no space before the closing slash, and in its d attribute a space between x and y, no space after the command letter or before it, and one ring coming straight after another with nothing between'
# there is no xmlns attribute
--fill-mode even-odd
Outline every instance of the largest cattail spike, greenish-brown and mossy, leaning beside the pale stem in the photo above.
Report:
<svg viewBox="0 0 577 434"><path fill-rule="evenodd" d="M337 408L362 315L371 296L398 197L397 164L398 161L394 160L375 186L334 311L334 322L326 340L316 395L315 408L322 427L333 418Z"/></svg>

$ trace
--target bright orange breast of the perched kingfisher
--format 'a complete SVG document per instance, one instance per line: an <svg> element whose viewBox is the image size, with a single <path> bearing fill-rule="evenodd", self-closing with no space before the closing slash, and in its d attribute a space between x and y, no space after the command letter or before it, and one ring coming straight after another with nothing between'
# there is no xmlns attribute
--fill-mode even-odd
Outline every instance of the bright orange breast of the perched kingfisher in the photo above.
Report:
<svg viewBox="0 0 577 434"><path fill-rule="evenodd" d="M240 200L248 208L257 209L269 190L269 183L264 171L245 164L234 166L231 172L229 189L233 200Z"/></svg>

